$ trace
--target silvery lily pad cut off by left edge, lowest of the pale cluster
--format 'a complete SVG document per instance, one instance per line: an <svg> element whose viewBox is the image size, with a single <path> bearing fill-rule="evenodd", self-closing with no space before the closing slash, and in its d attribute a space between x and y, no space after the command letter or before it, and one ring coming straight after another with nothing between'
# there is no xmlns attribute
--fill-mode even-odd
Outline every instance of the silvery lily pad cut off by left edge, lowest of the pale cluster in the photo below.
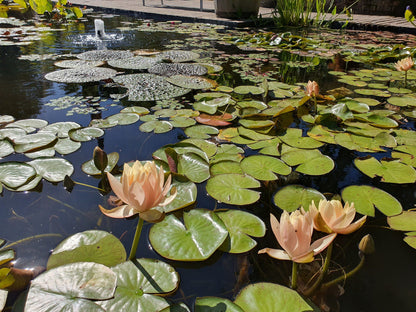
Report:
<svg viewBox="0 0 416 312"><path fill-rule="evenodd" d="M0 163L0 182L5 186L17 189L35 178L36 170L24 162L10 161Z"/></svg>

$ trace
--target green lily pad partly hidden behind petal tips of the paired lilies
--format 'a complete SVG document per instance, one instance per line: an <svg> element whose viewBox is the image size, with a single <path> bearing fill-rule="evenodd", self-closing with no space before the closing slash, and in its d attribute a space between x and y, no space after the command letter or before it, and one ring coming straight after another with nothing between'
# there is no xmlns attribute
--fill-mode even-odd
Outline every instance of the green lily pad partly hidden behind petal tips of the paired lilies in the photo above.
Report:
<svg viewBox="0 0 416 312"><path fill-rule="evenodd" d="M321 199L325 199L322 193L303 185L285 186L273 196L274 204L288 212L295 211L300 207L308 211L312 201L315 202L315 205L318 205Z"/></svg>

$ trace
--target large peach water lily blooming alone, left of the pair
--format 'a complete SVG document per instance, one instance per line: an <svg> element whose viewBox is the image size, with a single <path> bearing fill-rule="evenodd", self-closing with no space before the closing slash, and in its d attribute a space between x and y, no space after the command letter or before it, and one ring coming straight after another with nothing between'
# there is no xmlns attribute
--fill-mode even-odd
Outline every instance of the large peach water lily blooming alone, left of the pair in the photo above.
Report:
<svg viewBox="0 0 416 312"><path fill-rule="evenodd" d="M107 177L113 192L125 203L110 210L100 206L101 212L111 218L127 218L138 213L141 217L142 214L151 216L151 208L165 206L176 196L175 189L173 194L166 197L171 186L171 176L165 183L163 168L158 170L153 161L144 165L140 161L135 161L132 166L124 164L120 180L108 172Z"/></svg>

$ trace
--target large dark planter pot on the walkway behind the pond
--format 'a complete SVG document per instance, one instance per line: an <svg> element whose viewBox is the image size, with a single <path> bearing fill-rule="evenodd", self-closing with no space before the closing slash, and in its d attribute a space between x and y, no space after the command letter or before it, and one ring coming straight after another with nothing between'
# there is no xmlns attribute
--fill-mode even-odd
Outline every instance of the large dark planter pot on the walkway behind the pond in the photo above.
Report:
<svg viewBox="0 0 416 312"><path fill-rule="evenodd" d="M214 6L218 17L246 19L257 17L260 0L214 0Z"/></svg>

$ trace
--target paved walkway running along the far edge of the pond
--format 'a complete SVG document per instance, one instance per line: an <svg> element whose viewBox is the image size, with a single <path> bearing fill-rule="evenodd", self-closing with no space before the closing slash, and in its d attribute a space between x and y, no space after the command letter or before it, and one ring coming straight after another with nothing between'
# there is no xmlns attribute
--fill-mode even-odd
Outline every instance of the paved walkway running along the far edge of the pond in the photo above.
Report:
<svg viewBox="0 0 416 312"><path fill-rule="evenodd" d="M109 9L115 13L126 13L127 11L139 18L157 20L182 20L231 26L244 25L250 22L217 17L214 12L213 0L72 0L71 3L79 6ZM259 15L264 18L271 17L272 10L271 8L260 7ZM341 19L346 18L345 15L339 17ZM404 17L359 14L353 14L352 17L349 28L416 34L416 27L406 21Z"/></svg>

